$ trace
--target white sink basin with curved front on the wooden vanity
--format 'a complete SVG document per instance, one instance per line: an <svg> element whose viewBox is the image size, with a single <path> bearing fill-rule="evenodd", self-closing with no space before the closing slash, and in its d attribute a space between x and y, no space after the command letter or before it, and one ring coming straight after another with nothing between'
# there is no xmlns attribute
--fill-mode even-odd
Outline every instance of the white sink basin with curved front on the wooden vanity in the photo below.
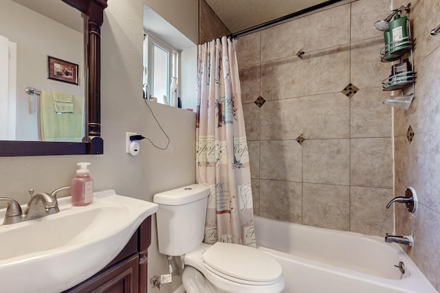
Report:
<svg viewBox="0 0 440 293"><path fill-rule="evenodd" d="M99 272L127 244L157 204L94 194L94 202L72 207L58 199L60 212L0 225L0 291L58 293ZM5 210L0 211L0 220Z"/></svg>

